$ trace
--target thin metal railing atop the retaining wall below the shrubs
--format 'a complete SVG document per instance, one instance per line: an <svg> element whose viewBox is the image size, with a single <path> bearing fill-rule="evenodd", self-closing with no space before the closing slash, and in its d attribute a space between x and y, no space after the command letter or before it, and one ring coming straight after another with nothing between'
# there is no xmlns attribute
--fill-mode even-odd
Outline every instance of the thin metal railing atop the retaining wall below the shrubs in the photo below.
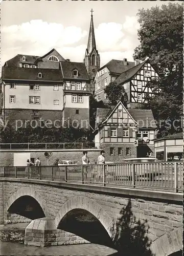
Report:
<svg viewBox="0 0 184 256"><path fill-rule="evenodd" d="M97 145L97 144L96 144ZM68 143L0 143L0 150L72 150L96 148L95 142ZM100 147L100 143L98 144Z"/></svg>

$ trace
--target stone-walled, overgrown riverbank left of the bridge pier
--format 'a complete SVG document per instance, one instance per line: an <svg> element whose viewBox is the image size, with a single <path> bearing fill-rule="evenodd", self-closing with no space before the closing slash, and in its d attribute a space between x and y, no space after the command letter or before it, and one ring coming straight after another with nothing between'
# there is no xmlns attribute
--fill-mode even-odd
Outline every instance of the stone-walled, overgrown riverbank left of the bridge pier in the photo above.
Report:
<svg viewBox="0 0 184 256"><path fill-rule="evenodd" d="M0 241L24 244L27 223L11 223L0 226Z"/></svg>

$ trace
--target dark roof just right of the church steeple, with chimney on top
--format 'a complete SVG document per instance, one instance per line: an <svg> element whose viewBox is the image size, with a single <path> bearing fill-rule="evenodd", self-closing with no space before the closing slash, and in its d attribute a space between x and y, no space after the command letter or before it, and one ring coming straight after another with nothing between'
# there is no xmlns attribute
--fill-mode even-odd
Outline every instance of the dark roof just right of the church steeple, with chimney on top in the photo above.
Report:
<svg viewBox="0 0 184 256"><path fill-rule="evenodd" d="M127 65L124 65L124 60L111 59L106 65L100 68L100 70L107 67L111 73L121 74L134 66L134 62L131 61L127 61Z"/></svg>

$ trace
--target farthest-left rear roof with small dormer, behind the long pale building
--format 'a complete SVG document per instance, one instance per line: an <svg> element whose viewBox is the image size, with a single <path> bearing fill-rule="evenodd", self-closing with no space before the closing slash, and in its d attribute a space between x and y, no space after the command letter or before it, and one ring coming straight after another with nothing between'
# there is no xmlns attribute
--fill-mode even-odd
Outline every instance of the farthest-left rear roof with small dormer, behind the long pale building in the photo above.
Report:
<svg viewBox="0 0 184 256"><path fill-rule="evenodd" d="M26 58L25 61L22 61L23 56L25 56L25 58ZM39 58L39 56L17 54L12 59L7 60L5 62L5 65L7 67L19 67L19 62L34 64L34 62L37 58Z"/></svg>

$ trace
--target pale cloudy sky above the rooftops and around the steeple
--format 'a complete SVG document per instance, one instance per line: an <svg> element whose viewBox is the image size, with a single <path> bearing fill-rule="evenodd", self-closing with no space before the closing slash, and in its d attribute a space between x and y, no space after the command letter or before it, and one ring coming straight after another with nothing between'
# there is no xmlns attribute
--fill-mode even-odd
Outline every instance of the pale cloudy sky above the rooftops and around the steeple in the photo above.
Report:
<svg viewBox="0 0 184 256"><path fill-rule="evenodd" d="M172 2L172 1L171 1ZM169 1L3 1L1 65L17 54L43 56L55 48L65 59L82 62L94 10L101 67L111 59L133 60L139 46L136 13ZM176 1L175 1L176 3Z"/></svg>

